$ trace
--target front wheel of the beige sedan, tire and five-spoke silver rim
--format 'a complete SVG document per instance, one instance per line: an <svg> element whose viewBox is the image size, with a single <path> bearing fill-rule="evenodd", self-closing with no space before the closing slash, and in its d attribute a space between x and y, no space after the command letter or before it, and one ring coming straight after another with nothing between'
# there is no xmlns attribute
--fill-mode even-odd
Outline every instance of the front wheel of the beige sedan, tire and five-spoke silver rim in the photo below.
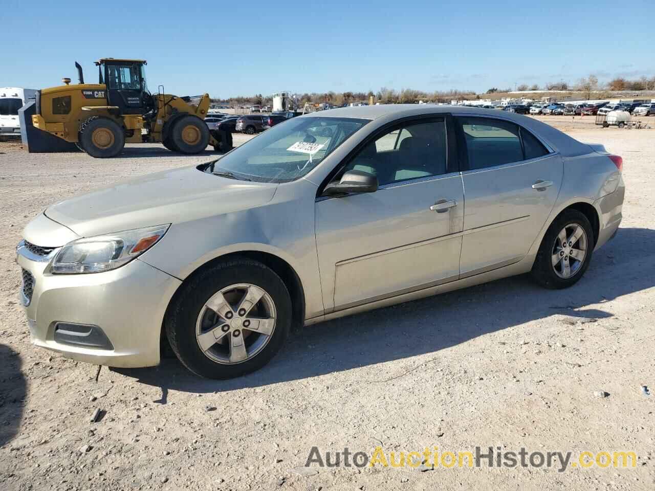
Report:
<svg viewBox="0 0 655 491"><path fill-rule="evenodd" d="M250 310L240 315L237 304L246 291L264 294L252 307L257 310L255 314ZM214 300L217 297L229 304ZM206 305L210 301L215 310ZM219 315L217 311L225 313ZM259 318L273 319L272 327L270 322L264 326L270 335L247 329L252 326L248 319ZM164 326L170 346L187 369L206 378L234 378L260 369L280 350L291 327L291 297L271 268L250 259L231 259L207 268L183 285L168 309ZM204 347L200 348L203 335ZM239 340L242 350L233 348ZM243 354L246 357L239 359Z"/></svg>

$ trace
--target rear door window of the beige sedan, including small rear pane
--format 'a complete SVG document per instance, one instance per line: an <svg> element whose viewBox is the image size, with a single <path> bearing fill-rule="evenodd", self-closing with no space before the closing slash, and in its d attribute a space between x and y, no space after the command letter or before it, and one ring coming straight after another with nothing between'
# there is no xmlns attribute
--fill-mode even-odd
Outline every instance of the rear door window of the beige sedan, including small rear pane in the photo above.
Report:
<svg viewBox="0 0 655 491"><path fill-rule="evenodd" d="M521 162L547 155L546 147L517 124L492 118L458 118L468 169Z"/></svg>

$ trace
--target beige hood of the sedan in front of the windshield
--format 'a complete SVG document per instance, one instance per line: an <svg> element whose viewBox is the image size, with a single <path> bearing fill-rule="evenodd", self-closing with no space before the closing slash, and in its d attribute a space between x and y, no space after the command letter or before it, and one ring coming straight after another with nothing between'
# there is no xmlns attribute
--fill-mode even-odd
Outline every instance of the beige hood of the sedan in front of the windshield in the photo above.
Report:
<svg viewBox="0 0 655 491"><path fill-rule="evenodd" d="M255 208L277 184L236 181L195 166L157 172L54 204L45 215L84 237Z"/></svg>

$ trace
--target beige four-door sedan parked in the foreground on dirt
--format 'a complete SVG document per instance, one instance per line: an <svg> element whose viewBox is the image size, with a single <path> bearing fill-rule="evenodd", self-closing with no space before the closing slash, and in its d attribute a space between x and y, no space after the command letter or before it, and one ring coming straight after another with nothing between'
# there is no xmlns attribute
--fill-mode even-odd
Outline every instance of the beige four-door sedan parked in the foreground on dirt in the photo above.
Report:
<svg viewBox="0 0 655 491"><path fill-rule="evenodd" d="M514 113L320 111L48 207L17 247L20 295L36 346L147 367L163 341L231 378L292 326L523 273L571 287L624 192L620 156Z"/></svg>

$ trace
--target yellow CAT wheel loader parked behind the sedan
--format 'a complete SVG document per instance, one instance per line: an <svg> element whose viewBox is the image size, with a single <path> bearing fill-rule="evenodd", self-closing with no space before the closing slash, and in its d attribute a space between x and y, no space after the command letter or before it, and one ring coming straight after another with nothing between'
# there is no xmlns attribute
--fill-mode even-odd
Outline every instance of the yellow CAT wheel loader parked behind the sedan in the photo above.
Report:
<svg viewBox="0 0 655 491"><path fill-rule="evenodd" d="M37 91L33 126L75 143L88 155L105 158L118 155L125 143L163 143L169 150L196 154L213 145L223 148L210 134L204 118L209 109L209 94L178 97L164 94L163 86L155 94L145 82L145 60L102 58L98 83L84 83L84 74L75 62L79 84ZM193 103L192 103L193 101Z"/></svg>

